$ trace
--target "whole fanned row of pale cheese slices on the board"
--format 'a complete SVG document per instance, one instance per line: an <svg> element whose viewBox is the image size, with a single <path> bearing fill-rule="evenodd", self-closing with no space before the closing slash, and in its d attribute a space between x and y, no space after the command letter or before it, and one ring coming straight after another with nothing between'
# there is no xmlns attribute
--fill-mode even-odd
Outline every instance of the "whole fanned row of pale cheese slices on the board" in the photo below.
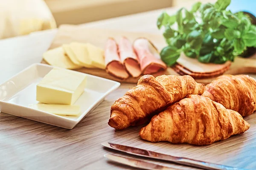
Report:
<svg viewBox="0 0 256 170"><path fill-rule="evenodd" d="M104 51L90 43L71 42L53 48L43 54L50 65L67 69L100 68L105 69Z"/></svg>

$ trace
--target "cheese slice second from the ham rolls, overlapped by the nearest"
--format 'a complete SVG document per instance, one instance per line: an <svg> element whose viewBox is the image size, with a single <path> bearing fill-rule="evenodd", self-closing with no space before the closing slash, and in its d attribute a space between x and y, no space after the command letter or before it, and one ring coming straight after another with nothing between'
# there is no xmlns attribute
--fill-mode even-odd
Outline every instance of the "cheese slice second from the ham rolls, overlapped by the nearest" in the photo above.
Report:
<svg viewBox="0 0 256 170"><path fill-rule="evenodd" d="M76 59L81 62L84 67L94 68L92 65L92 60L89 57L89 52L84 43L71 42L70 48L74 52Z"/></svg>

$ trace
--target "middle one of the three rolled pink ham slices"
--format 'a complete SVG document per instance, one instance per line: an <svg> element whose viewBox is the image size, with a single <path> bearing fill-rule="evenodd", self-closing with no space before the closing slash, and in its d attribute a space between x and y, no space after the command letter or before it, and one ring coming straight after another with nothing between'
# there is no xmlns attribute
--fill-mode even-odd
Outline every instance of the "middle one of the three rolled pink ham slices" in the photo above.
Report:
<svg viewBox="0 0 256 170"><path fill-rule="evenodd" d="M139 77L141 74L140 63L131 42L126 37L120 39L119 56L128 73L132 77Z"/></svg>

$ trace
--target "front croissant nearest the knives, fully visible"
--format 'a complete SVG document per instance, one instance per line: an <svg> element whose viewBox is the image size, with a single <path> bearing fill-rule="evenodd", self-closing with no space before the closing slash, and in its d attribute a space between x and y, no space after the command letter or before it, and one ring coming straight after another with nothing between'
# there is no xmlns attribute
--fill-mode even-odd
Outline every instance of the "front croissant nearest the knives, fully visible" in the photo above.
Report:
<svg viewBox="0 0 256 170"><path fill-rule="evenodd" d="M208 97L189 95L154 116L140 130L140 137L151 142L204 145L244 133L249 127L236 111Z"/></svg>

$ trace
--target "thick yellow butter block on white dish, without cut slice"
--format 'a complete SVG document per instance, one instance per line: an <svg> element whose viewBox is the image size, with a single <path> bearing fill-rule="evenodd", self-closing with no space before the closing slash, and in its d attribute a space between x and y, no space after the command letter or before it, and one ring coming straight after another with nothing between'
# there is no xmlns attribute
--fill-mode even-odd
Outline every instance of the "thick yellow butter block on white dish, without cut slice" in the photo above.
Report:
<svg viewBox="0 0 256 170"><path fill-rule="evenodd" d="M84 92L86 75L53 68L36 88L36 100L47 104L73 105Z"/></svg>

